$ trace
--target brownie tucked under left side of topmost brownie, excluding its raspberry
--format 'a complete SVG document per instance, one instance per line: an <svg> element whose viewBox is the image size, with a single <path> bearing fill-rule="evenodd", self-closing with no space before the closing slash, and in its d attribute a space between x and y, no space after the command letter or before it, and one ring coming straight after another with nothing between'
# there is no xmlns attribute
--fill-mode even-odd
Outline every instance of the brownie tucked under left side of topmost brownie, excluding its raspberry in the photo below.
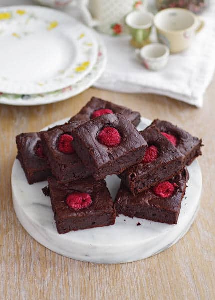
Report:
<svg viewBox="0 0 215 300"><path fill-rule="evenodd" d="M45 155L50 165L52 174L61 183L82 179L90 175L78 155L64 153L59 150L59 138L63 134L71 135L71 132L84 121L76 121L70 124L58 126L50 131L41 132L41 139Z"/></svg>

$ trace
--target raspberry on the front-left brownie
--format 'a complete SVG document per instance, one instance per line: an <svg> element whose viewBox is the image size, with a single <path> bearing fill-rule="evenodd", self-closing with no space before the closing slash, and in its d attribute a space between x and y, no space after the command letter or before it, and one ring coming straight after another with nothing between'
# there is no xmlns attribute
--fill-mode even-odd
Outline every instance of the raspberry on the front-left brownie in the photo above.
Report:
<svg viewBox="0 0 215 300"><path fill-rule="evenodd" d="M73 192L66 198L66 204L73 209L89 207L92 203L91 196L84 192Z"/></svg>

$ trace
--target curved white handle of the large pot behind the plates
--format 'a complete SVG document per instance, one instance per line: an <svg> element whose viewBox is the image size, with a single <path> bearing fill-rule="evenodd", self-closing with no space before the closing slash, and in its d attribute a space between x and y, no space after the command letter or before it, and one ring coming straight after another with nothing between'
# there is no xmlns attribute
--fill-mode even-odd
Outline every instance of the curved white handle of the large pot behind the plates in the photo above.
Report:
<svg viewBox="0 0 215 300"><path fill-rule="evenodd" d="M95 27L99 25L99 21L97 19L94 19L91 13L89 12L87 8L88 2L89 0L73 0L71 6L76 6L77 8L79 8L83 20L87 26Z"/></svg>

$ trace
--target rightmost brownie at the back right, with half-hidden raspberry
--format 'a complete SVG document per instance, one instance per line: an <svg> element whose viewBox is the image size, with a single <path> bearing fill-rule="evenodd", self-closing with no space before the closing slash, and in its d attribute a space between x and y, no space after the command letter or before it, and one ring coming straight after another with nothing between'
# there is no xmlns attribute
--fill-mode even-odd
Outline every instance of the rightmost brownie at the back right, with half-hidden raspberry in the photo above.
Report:
<svg viewBox="0 0 215 300"><path fill-rule="evenodd" d="M156 119L152 124L169 138L178 151L184 155L186 165L190 165L197 156L202 155L200 150L202 139L192 136L190 133L167 121Z"/></svg>

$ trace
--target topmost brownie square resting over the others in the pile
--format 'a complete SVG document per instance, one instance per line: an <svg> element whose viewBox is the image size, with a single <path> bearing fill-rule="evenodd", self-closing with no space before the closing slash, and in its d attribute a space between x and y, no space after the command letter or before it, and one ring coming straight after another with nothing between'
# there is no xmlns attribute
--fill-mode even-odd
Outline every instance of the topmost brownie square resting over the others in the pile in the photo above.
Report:
<svg viewBox="0 0 215 300"><path fill-rule="evenodd" d="M109 129L116 131L117 137L121 139L115 146L99 141L101 134ZM90 120L75 128L72 135L76 153L96 180L119 174L139 162L147 147L142 135L119 113L104 114Z"/></svg>

